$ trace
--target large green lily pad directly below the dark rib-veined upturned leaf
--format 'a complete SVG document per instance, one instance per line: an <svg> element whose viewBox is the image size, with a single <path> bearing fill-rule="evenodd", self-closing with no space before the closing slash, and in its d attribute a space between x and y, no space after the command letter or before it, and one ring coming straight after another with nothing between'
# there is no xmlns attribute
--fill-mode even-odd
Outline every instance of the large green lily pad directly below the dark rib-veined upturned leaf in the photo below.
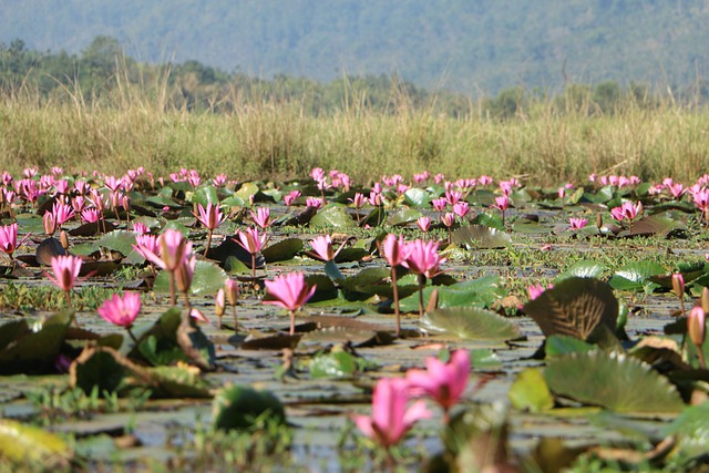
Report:
<svg viewBox="0 0 709 473"><path fill-rule="evenodd" d="M552 358L544 370L557 395L625 413L676 413L685 407L667 378L626 354L589 351Z"/></svg>

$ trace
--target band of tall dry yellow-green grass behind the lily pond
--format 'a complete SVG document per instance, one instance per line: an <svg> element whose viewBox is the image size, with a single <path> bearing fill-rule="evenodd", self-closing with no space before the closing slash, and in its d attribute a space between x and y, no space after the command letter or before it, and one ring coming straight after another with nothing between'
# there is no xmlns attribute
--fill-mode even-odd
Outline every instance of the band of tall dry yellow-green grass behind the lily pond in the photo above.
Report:
<svg viewBox="0 0 709 473"><path fill-rule="evenodd" d="M561 113L541 100L504 121L485 117L474 103L467 116L452 119L405 100L393 101L391 113L373 112L357 97L328 116L306 113L297 101L237 104L216 114L175 106L166 84L165 78L143 86L117 78L113 94L90 102L69 89L52 97L28 88L2 95L0 167L114 174L191 167L244 181L298 177L321 166L358 182L429 169L526 176L538 185L583 182L592 172L685 182L709 172L709 114L671 102L602 114Z"/></svg>

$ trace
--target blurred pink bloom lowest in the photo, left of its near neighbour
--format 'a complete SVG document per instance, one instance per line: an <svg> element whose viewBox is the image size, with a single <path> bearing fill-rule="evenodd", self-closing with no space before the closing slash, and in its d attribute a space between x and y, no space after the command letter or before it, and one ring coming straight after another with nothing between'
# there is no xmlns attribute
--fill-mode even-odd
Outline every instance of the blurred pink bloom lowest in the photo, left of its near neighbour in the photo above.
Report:
<svg viewBox="0 0 709 473"><path fill-rule="evenodd" d="M433 415L423 401L415 401L407 407L409 399L407 380L382 378L374 387L371 417L352 415L357 428L387 451L392 466L391 446L398 444L419 420L431 419Z"/></svg>

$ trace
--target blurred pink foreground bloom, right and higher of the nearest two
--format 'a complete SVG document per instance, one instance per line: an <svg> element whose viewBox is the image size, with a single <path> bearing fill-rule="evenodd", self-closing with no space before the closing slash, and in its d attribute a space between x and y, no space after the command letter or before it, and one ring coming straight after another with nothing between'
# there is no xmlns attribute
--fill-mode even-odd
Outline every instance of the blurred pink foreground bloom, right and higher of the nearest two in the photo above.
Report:
<svg viewBox="0 0 709 473"><path fill-rule="evenodd" d="M470 379L470 354L467 350L455 350L448 363L435 357L425 359L427 370L409 370L407 381L413 395L428 395L444 412L444 423L449 422L449 412L455 405Z"/></svg>

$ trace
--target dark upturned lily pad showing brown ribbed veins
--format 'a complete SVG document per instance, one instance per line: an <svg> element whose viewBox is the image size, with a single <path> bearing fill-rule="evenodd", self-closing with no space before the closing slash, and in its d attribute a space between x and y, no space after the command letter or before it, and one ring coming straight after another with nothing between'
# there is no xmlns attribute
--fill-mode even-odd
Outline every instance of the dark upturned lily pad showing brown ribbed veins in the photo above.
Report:
<svg viewBox="0 0 709 473"><path fill-rule="evenodd" d="M528 301L524 311L546 337L566 335L586 340L598 325L615 331L618 301L606 282L571 277Z"/></svg>

